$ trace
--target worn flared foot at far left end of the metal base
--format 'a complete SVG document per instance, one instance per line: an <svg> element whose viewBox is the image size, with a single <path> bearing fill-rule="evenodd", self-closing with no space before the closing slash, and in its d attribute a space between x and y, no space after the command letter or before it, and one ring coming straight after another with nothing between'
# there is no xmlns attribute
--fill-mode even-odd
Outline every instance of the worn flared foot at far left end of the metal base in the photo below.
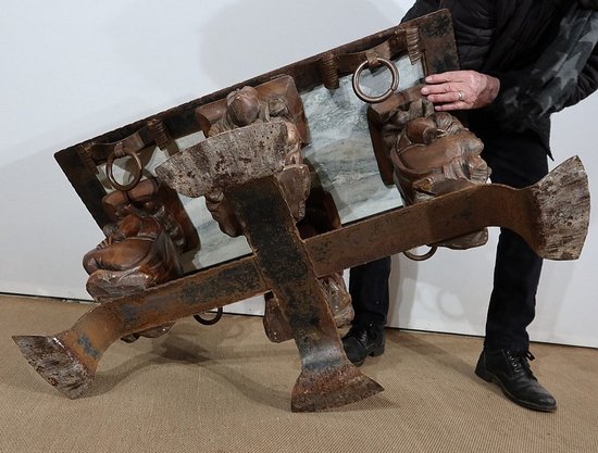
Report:
<svg viewBox="0 0 598 453"><path fill-rule="evenodd" d="M68 398L80 397L94 379L94 372L57 337L18 336L12 339L35 370Z"/></svg>

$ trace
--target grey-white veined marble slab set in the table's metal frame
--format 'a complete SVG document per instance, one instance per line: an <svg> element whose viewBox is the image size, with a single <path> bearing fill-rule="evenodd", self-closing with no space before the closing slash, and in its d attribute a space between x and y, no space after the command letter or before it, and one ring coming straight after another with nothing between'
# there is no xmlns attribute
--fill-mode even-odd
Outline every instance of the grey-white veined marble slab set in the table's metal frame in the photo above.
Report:
<svg viewBox="0 0 598 453"><path fill-rule="evenodd" d="M400 74L399 90L422 79L420 64L411 65L408 58L395 63ZM303 156L312 169L313 184L321 185L333 196L342 224L402 205L398 190L382 181L367 128L367 104L354 95L351 78L342 77L336 90L320 86L301 96L311 135L310 144L303 148ZM376 74L362 73L361 87L365 92L382 93L389 85L390 76L386 70ZM177 143L183 150L203 139L203 134L199 133L183 137ZM145 172L154 174L154 168L167 155L157 148L146 159ZM126 165L117 168L115 164L116 179L125 178L125 171L129 171ZM245 237L231 238L220 230L205 207L203 197L179 197L200 239L200 247L186 253L187 272L251 252Z"/></svg>

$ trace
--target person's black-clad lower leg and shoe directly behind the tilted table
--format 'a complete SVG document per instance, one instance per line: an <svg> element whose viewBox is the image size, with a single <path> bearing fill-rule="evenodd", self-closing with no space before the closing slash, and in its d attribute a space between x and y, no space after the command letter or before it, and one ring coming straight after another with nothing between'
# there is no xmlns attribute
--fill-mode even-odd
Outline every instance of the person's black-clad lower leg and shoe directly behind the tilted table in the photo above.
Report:
<svg viewBox="0 0 598 453"><path fill-rule="evenodd" d="M351 329L342 338L342 345L349 361L358 366L369 355L384 353L389 276L390 256L349 270L349 293L354 317Z"/></svg>

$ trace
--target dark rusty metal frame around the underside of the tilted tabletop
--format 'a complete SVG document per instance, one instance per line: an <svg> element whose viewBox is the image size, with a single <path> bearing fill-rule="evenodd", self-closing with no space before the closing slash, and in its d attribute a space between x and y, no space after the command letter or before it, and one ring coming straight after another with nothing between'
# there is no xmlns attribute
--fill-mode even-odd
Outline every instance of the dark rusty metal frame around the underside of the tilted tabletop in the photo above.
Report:
<svg viewBox="0 0 598 453"><path fill-rule="evenodd" d="M414 28L418 30L419 53L421 53L422 61L424 62L426 75L451 71L458 67L450 13L444 10L410 21L409 23L393 26L379 33L240 81L147 118L107 131L82 143L65 148L57 152L54 158L87 210L91 213L98 225L103 227L109 223L100 203L101 198L105 196L105 189L97 179L94 166L105 160L108 158L107 153L111 152L119 142L126 141L128 144L133 140L130 137L134 137L135 140L140 139L137 141L145 144L155 143L159 147L166 147L170 143L170 147L173 144L173 140L201 130L196 116L197 109L226 98L226 95L234 89L244 86L258 86L275 77L288 75L295 80L299 93L307 92L314 87L324 85L329 73L325 68L326 61L333 59L337 62L337 67L335 68L337 76L351 74L362 63L362 59L353 58L354 55L362 56L366 51L372 49L372 52L382 53L379 56L394 58L391 53L406 51L403 49L404 46L395 46L393 42L397 40L397 37L406 33L407 39L410 41L409 36L414 36ZM388 42L388 46L385 42ZM388 54L381 50L387 48L394 50ZM411 53L418 52L410 51ZM160 127L157 128L157 124ZM82 151L85 149L91 150L95 158L86 156L85 152ZM169 150L171 155L176 150Z"/></svg>

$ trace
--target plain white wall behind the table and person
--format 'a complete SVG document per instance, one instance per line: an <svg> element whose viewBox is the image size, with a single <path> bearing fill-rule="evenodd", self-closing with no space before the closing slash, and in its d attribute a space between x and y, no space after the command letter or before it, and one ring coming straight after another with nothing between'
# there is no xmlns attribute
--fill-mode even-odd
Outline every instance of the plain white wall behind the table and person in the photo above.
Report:
<svg viewBox="0 0 598 453"><path fill-rule="evenodd" d="M399 23L407 0L30 0L0 15L0 292L89 300L80 260L102 239L53 153ZM555 116L556 164L598 180L598 95ZM594 176L596 175L596 176ZM390 324L483 335L496 230L476 250L394 257ZM598 231L546 262L533 340L598 347ZM236 310L259 313L259 298Z"/></svg>

